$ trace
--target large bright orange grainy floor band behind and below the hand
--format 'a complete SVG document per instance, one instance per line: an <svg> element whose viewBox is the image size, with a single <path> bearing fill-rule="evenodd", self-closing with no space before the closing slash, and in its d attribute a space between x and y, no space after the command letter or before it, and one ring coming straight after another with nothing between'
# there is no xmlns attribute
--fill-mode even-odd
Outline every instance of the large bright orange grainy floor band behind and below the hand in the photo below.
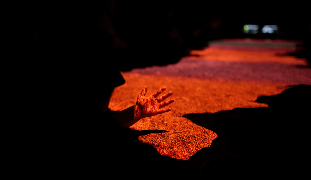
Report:
<svg viewBox="0 0 311 180"><path fill-rule="evenodd" d="M112 94L109 108L113 111L133 106L144 86L148 87L146 96L163 86L173 92L170 98L175 102L167 106L172 111L143 118L130 128L167 130L166 133L142 135L138 139L151 144L161 155L185 160L198 150L209 147L217 134L182 117L184 114L267 107L267 104L253 101L259 96L279 94L288 85L136 73L122 75L126 83L115 88Z"/></svg>

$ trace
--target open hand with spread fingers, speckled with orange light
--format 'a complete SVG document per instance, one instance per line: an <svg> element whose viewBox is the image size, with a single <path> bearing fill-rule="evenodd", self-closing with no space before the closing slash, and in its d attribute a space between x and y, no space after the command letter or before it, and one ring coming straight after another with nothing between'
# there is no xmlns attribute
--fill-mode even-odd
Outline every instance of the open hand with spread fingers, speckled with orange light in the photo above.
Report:
<svg viewBox="0 0 311 180"><path fill-rule="evenodd" d="M164 90L165 90L165 87L162 87L156 92L154 92L152 95L146 97L145 95L147 92L147 87L145 86L142 89L142 92L137 97L136 105L134 105L135 107L134 119L136 121L144 117L151 117L151 116L155 116L157 114L162 114L162 113L172 110L171 108L161 109L162 107L165 107L174 102L174 99L171 99L166 102L162 102L167 97L173 94L173 92L170 91L164 94L163 96L158 97ZM156 97L158 98L156 99Z"/></svg>

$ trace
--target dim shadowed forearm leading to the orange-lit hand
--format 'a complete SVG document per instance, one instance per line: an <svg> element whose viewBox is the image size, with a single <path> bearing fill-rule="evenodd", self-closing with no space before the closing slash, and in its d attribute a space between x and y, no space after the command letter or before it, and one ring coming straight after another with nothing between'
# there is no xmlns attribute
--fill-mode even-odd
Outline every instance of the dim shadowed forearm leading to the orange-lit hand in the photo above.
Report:
<svg viewBox="0 0 311 180"><path fill-rule="evenodd" d="M123 111L116 112L111 116L122 126L128 128L140 120L140 109L137 105L129 107Z"/></svg>

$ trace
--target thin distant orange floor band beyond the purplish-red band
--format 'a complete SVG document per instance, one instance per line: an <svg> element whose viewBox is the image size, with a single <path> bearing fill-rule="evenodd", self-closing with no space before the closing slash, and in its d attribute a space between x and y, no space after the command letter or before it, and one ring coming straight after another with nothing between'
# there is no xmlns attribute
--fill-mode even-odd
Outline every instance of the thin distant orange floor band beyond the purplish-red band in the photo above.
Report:
<svg viewBox="0 0 311 180"><path fill-rule="evenodd" d="M192 50L191 55L184 59L189 60L216 60L227 62L265 62L308 65L305 59L287 55L277 51L228 50L208 47L204 50Z"/></svg>

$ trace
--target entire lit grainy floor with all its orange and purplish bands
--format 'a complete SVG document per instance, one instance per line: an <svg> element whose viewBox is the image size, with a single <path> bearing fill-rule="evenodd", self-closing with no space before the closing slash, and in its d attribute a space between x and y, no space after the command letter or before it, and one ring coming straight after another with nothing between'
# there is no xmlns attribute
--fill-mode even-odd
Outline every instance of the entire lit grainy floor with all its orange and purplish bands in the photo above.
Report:
<svg viewBox="0 0 311 180"><path fill-rule="evenodd" d="M311 69L286 53L295 50L295 42L285 40L222 40L205 50L194 50L177 64L153 66L123 72L125 84L115 88L109 108L122 111L136 103L147 86L146 96L165 86L175 102L164 114L143 118L130 128L166 130L141 135L158 153L175 159L189 159L209 147L217 134L189 119L191 113L216 113L234 108L268 107L254 102L259 96L280 94L289 85L311 84ZM163 92L163 94L166 92Z"/></svg>

